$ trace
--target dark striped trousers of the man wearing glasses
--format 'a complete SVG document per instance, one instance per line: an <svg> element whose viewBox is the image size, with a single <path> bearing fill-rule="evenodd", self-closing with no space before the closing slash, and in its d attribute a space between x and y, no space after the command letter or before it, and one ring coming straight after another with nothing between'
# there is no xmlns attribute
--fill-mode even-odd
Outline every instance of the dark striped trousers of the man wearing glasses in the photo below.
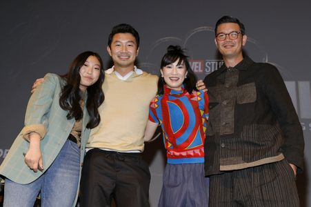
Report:
<svg viewBox="0 0 311 207"><path fill-rule="evenodd" d="M288 162L274 162L210 176L210 207L299 206L294 172Z"/></svg>

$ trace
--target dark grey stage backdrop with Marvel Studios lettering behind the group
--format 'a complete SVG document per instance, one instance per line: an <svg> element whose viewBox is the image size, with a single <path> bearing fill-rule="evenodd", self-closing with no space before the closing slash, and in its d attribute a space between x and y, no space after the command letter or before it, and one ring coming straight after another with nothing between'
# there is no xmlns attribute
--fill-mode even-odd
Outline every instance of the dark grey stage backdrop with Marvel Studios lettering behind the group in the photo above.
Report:
<svg viewBox="0 0 311 207"><path fill-rule="evenodd" d="M108 34L130 23L141 35L137 66L158 74L170 44L187 48L194 72L203 79L222 61L214 46L214 23L225 14L246 28L245 52L254 61L277 66L290 91L305 135L305 172L297 185L301 206L311 206L310 34L311 1L0 1L0 163L23 127L36 78L63 74L84 50L102 55L106 68ZM293 137L294 139L294 137ZM165 152L161 139L146 145L150 164L150 204L157 206Z"/></svg>

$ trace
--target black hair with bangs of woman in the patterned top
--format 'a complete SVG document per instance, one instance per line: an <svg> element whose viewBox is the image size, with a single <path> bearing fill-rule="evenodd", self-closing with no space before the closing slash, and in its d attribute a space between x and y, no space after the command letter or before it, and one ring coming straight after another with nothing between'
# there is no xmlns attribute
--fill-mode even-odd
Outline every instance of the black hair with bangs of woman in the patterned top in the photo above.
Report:
<svg viewBox="0 0 311 207"><path fill-rule="evenodd" d="M192 92L193 90L197 90L196 83L197 83L197 76L194 74L190 67L190 63L188 61L188 56L185 55L185 52L183 49L181 49L181 46L168 46L167 52L163 56L161 60L161 69L163 69L165 66L168 66L175 61L178 60L178 65L181 63L185 64L185 70L187 73L187 78L183 80L183 86L185 90L188 92ZM163 95L164 93L164 85L165 81L164 78L159 76L158 81L158 95Z"/></svg>

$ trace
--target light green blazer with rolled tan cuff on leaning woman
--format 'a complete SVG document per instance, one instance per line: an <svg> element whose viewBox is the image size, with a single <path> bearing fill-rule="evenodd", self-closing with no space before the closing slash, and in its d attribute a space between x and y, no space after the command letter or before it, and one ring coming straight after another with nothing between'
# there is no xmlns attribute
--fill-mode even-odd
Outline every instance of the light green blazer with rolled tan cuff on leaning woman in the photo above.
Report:
<svg viewBox="0 0 311 207"><path fill-rule="evenodd" d="M66 81L58 75L47 74L44 77L43 83L30 97L26 110L25 127L19 133L3 160L0 166L0 175L19 184L29 184L48 170L63 144L65 144L74 125L74 119L68 120L66 117L68 111L59 106L59 94L61 87L65 83ZM90 135L90 129L86 128L88 121L89 115L85 102L81 132L81 165L85 155L86 142ZM43 172L39 170L33 172L26 166L24 161L23 153L28 151L28 135L30 132L38 132L43 137L40 143L44 166Z"/></svg>

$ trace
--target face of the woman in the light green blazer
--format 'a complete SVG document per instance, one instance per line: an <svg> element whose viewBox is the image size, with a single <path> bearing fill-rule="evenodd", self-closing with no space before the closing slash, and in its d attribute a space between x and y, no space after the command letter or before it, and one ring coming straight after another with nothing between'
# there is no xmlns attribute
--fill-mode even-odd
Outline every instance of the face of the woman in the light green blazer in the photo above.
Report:
<svg viewBox="0 0 311 207"><path fill-rule="evenodd" d="M89 56L86 62L81 66L79 70L81 77L80 80L80 90L85 91L88 86L96 83L101 74L101 63L95 56Z"/></svg>

